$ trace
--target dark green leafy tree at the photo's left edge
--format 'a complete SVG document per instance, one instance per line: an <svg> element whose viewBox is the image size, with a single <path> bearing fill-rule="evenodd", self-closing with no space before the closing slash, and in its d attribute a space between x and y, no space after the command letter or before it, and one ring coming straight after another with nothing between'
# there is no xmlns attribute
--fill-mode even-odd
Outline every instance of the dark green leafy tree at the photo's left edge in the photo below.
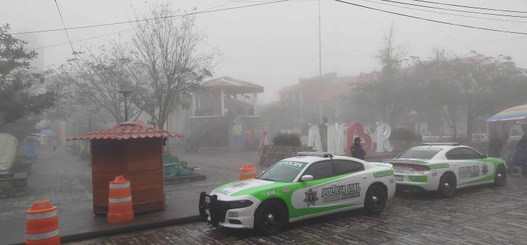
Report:
<svg viewBox="0 0 527 245"><path fill-rule="evenodd" d="M56 102L55 92L46 88L45 74L30 66L37 52L25 50L27 42L9 30L9 25L0 27L0 127L39 114Z"/></svg>

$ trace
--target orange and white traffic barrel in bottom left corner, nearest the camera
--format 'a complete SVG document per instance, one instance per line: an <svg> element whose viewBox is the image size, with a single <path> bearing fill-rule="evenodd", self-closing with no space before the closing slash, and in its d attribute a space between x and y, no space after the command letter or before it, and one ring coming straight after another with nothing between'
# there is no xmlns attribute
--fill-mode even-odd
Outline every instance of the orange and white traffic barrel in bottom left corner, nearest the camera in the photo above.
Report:
<svg viewBox="0 0 527 245"><path fill-rule="evenodd" d="M48 201L34 202L25 213L25 244L60 244L57 207Z"/></svg>

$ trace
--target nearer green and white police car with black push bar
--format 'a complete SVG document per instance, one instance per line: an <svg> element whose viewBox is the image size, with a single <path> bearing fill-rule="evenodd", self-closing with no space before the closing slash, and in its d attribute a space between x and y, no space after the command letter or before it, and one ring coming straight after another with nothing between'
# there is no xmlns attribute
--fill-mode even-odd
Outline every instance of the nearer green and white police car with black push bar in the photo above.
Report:
<svg viewBox="0 0 527 245"><path fill-rule="evenodd" d="M264 235L286 223L364 207L379 213L395 193L392 166L331 153L299 153L254 179L200 194L200 217L215 227L256 228Z"/></svg>

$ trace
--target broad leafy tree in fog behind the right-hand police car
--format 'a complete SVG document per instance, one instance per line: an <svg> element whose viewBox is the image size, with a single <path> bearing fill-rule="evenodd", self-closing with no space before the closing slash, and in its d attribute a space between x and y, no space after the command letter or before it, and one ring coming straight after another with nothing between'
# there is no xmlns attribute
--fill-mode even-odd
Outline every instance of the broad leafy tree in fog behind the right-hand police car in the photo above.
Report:
<svg viewBox="0 0 527 245"><path fill-rule="evenodd" d="M467 140L471 141L474 118L526 102L526 72L516 67L511 57L476 52L468 57L448 57L436 50L434 58L416 62L412 69L423 85L415 104L439 111L454 137L462 112L466 113Z"/></svg>

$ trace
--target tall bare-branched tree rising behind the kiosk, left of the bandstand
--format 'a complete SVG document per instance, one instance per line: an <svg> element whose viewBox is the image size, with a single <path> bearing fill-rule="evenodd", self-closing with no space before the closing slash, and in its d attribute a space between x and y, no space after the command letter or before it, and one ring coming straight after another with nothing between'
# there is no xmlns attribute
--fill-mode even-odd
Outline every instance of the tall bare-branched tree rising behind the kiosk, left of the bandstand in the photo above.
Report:
<svg viewBox="0 0 527 245"><path fill-rule="evenodd" d="M176 13L170 4L152 6L151 20L138 25L132 38L134 68L138 83L132 99L162 129L176 106L188 107L183 97L199 87L209 72L214 53L200 54L197 46L204 34L195 28L195 18Z"/></svg>

